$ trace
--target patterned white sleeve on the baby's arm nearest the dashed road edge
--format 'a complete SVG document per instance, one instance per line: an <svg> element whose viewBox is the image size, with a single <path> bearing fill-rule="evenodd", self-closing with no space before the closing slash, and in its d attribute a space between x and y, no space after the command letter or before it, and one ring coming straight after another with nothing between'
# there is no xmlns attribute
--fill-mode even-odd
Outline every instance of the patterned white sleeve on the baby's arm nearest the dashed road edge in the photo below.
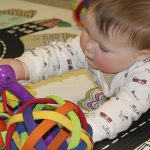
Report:
<svg viewBox="0 0 150 150"><path fill-rule="evenodd" d="M87 117L94 142L116 137L150 108L148 65L128 74L117 94Z"/></svg>

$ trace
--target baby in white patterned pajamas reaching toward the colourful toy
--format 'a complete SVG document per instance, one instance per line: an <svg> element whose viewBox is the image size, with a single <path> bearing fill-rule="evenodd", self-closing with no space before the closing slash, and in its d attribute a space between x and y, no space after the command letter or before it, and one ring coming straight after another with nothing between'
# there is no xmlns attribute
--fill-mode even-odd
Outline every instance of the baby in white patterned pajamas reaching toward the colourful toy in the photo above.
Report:
<svg viewBox="0 0 150 150"><path fill-rule="evenodd" d="M0 64L32 83L86 68L110 97L87 117L92 138L114 138L150 108L150 0L94 2L81 35Z"/></svg>

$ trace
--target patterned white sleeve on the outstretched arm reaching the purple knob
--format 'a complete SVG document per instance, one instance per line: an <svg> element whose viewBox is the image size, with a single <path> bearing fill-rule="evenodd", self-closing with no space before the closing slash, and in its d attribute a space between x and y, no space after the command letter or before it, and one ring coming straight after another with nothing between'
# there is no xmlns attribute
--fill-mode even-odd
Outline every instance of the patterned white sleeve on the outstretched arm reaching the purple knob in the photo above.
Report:
<svg viewBox="0 0 150 150"><path fill-rule="evenodd" d="M33 83L72 69L83 68L85 65L80 36L27 51L17 59L25 63L30 74L30 82Z"/></svg>

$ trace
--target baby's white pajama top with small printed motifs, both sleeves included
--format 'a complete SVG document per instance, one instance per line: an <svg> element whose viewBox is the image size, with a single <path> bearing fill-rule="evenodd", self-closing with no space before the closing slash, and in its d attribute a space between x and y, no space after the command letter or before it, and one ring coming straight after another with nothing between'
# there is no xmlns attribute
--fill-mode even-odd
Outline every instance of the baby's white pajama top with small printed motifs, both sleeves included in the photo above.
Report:
<svg viewBox="0 0 150 150"><path fill-rule="evenodd" d="M80 36L27 51L17 59L27 66L32 83L72 69L86 68L89 71L103 93L110 97L86 117L93 129L94 142L114 138L150 107L150 58L118 73L110 85L101 71L87 65L80 47Z"/></svg>

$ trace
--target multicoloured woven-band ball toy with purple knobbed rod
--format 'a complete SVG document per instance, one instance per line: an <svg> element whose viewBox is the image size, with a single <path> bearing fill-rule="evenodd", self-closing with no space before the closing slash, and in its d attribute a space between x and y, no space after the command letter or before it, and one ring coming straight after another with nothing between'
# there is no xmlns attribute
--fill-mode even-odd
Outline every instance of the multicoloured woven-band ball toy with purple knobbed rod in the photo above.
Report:
<svg viewBox="0 0 150 150"><path fill-rule="evenodd" d="M7 105L6 90L21 102L15 111ZM0 113L0 149L93 149L92 128L74 103L57 96L35 98L10 66L0 66L0 92L6 112Z"/></svg>

